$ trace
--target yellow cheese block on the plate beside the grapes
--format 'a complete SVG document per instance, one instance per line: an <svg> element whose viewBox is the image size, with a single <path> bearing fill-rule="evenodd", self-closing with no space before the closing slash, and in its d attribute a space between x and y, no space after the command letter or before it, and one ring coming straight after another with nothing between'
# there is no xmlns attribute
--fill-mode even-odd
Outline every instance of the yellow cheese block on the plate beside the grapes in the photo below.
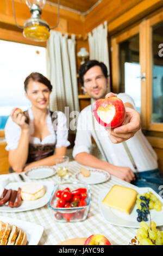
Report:
<svg viewBox="0 0 163 256"><path fill-rule="evenodd" d="M114 185L102 203L110 208L130 214L136 202L137 192L133 188Z"/></svg>

